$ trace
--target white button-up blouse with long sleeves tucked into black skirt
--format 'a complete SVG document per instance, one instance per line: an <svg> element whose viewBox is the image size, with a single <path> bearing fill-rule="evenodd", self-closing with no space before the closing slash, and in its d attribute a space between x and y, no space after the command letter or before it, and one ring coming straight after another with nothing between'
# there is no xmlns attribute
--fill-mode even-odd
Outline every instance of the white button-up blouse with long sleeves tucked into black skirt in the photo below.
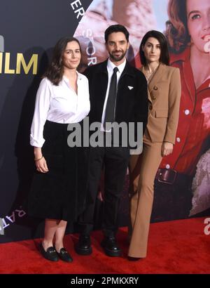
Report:
<svg viewBox="0 0 210 288"><path fill-rule="evenodd" d="M58 86L44 78L36 94L34 118L31 124L30 143L41 148L43 127L46 120L56 123L78 123L90 112L90 97L87 77L78 73L78 93L69 86L69 81L63 77Z"/></svg>

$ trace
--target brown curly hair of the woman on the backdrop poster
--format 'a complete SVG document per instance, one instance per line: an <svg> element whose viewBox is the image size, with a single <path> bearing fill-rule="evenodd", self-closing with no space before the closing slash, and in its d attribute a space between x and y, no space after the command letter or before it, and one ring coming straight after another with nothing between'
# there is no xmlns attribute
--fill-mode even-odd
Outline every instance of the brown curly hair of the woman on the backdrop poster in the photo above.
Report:
<svg viewBox="0 0 210 288"><path fill-rule="evenodd" d="M168 15L165 35L169 42L169 51L180 53L190 43L186 0L169 0Z"/></svg>

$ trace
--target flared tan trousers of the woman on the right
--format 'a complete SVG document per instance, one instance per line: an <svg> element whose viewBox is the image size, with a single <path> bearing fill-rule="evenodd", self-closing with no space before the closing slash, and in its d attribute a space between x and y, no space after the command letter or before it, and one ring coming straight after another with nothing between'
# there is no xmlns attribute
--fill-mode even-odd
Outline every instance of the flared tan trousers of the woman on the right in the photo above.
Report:
<svg viewBox="0 0 210 288"><path fill-rule="evenodd" d="M130 159L130 200L132 235L128 256L146 257L148 231L153 207L155 174L162 160L162 143L152 143L148 132L144 135L143 152Z"/></svg>

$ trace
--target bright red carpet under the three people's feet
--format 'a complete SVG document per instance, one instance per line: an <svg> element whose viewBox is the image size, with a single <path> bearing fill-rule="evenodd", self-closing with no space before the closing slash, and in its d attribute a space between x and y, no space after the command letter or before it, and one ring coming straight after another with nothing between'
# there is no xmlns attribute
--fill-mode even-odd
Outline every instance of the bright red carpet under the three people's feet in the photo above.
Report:
<svg viewBox="0 0 210 288"><path fill-rule="evenodd" d="M78 256L73 243L78 235L66 235L65 245L73 263L45 260L36 247L40 240L0 244L0 273L210 273L210 235L204 235L204 218L151 224L148 256L127 261L127 229L120 228L118 242L123 256L105 256L102 232L92 233L93 254Z"/></svg>

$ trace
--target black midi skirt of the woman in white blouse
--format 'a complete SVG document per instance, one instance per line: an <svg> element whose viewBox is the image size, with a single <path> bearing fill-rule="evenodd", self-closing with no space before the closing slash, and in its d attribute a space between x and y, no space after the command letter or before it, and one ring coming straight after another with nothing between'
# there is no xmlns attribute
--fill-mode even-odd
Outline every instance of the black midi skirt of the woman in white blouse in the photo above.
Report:
<svg viewBox="0 0 210 288"><path fill-rule="evenodd" d="M34 172L28 199L29 216L73 222L85 209L88 149L67 145L70 133L67 125L45 122L42 153L49 171Z"/></svg>

